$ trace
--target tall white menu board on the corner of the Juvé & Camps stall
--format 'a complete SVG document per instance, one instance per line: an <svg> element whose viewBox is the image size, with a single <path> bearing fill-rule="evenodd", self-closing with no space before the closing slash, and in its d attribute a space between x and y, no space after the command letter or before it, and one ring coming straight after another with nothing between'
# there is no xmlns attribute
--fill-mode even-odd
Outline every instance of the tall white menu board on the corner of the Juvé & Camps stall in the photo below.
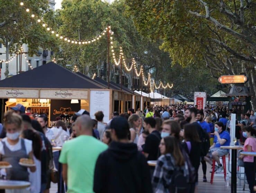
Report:
<svg viewBox="0 0 256 193"><path fill-rule="evenodd" d="M90 115L95 119L94 113L102 111L104 114L103 122L109 121L110 111L110 92L105 90L91 90L90 91Z"/></svg>

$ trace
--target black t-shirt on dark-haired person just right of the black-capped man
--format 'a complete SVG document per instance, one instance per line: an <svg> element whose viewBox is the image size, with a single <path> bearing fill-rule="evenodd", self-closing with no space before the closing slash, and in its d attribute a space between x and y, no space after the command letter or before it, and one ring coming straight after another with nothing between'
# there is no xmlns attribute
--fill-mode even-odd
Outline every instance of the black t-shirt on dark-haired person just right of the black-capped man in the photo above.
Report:
<svg viewBox="0 0 256 193"><path fill-rule="evenodd" d="M145 141L143 151L148 153L147 160L157 160L158 159L158 146L161 141L161 134L158 131L153 131L150 133Z"/></svg>

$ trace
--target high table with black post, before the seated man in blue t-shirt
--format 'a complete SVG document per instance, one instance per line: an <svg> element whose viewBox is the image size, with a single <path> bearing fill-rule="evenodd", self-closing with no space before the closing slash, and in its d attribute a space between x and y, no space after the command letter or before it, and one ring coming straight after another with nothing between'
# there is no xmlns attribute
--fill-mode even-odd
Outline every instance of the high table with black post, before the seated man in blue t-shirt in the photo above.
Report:
<svg viewBox="0 0 256 193"><path fill-rule="evenodd" d="M220 146L221 149L230 149L231 150L231 193L236 193L236 179L237 179L237 150L243 149L243 146Z"/></svg>

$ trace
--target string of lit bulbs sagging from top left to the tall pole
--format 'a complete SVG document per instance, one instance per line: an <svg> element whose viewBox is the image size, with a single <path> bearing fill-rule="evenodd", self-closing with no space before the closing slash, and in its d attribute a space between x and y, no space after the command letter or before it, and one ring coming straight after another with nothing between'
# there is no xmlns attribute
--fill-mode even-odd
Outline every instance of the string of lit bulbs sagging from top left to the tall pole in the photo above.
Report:
<svg viewBox="0 0 256 193"><path fill-rule="evenodd" d="M30 12L30 10L25 7L24 2L20 2L20 6L21 6L21 7L24 7L25 10L26 10L26 12L28 12L28 13ZM42 26L43 26L44 28L46 28L47 31L51 32L51 34L55 34L55 36L56 36L57 38L60 38L61 40L64 40L65 42L67 42L67 43L72 43L72 44L74 43L74 44L79 44L79 45L86 45L86 44L93 43L93 42L95 42L95 41L97 41L97 40L100 40L100 39L106 34L107 29L108 29L108 28L106 27L106 29L104 29L99 35L97 35L97 36L95 36L95 37L93 37L93 38L91 38L91 39L77 40L77 39L68 38L68 37L66 37L66 36L64 36L64 35L59 34L57 31L54 31L54 29L51 28L51 27L49 27L49 26L46 24L46 22L43 21L42 18L39 18L39 17L36 16L35 14L31 14L31 18L35 18L35 20L36 20L38 23L42 23Z"/></svg>

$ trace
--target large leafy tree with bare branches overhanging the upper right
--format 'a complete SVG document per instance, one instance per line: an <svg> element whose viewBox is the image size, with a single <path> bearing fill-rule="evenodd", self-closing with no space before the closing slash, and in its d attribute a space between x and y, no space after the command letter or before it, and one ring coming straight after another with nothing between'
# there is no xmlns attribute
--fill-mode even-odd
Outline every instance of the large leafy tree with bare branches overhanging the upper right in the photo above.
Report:
<svg viewBox="0 0 256 193"><path fill-rule="evenodd" d="M126 1L142 34L162 39L173 63L182 66L202 61L213 77L246 73L254 92L255 6L253 1Z"/></svg>

